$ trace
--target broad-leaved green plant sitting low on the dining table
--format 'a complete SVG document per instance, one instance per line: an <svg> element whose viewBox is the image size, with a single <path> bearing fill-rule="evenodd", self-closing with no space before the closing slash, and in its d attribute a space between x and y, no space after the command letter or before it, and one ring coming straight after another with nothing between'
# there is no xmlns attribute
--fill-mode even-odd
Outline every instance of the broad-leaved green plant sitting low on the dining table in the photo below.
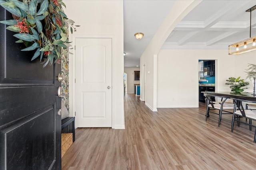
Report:
<svg viewBox="0 0 256 170"><path fill-rule="evenodd" d="M243 92L244 89L246 88L242 88L242 87L247 86L249 84L249 82L244 82L244 80L240 79L240 77L238 78L230 77L226 81L227 81L227 83L225 83L226 85L231 85L229 87L231 88L232 92Z"/></svg>

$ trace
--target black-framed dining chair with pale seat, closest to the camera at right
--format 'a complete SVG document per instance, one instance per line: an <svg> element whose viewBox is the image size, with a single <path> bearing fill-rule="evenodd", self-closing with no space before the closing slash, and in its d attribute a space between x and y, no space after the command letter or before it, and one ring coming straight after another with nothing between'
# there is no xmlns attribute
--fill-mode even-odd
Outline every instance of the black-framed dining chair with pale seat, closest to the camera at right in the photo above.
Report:
<svg viewBox="0 0 256 170"><path fill-rule="evenodd" d="M231 98L232 99L232 98ZM252 120L256 121L256 111L253 109L244 109L242 102L251 102L247 100L241 100L241 99L233 99L234 100L234 111L233 111L233 119L232 119L232 127L231 132L233 132L234 129L234 121L237 121L237 125L239 127L239 123L244 123L246 125L249 125L250 131L252 130L251 127L256 127L256 125L252 125ZM246 121L240 120L240 117L245 117L246 119L249 119L249 123ZM254 143L256 143L256 129L254 133Z"/></svg>

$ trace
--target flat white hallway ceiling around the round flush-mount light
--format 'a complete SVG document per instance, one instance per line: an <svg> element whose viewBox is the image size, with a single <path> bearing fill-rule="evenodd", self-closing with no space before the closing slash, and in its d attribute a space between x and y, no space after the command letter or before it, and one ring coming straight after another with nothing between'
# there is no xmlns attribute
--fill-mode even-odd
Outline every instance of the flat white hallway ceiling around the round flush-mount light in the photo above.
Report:
<svg viewBox="0 0 256 170"><path fill-rule="evenodd" d="M124 66L140 66L140 56L172 8L174 0L124 0ZM136 39L135 33L144 33Z"/></svg>

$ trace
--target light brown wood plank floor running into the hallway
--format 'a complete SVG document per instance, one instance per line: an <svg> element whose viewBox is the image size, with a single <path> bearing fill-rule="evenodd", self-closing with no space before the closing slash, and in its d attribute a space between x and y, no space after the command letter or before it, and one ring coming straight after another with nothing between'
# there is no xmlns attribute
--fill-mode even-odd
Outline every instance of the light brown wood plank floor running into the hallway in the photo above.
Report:
<svg viewBox="0 0 256 170"><path fill-rule="evenodd" d="M255 128L234 126L232 115L205 106L152 112L134 94L124 102L126 129L78 128L62 170L255 170ZM255 122L254 122L255 123Z"/></svg>

